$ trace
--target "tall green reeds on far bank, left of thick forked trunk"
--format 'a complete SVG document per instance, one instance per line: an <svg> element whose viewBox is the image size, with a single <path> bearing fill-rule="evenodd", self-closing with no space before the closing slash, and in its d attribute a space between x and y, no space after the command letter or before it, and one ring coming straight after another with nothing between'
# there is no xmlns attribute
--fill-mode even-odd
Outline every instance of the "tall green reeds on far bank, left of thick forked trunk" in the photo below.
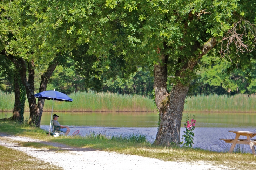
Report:
<svg viewBox="0 0 256 170"><path fill-rule="evenodd" d="M54 111L63 112L138 112L156 111L153 100L140 95L118 95L116 93L77 92L69 95L73 102L54 101ZM14 93L0 91L0 111L12 111ZM29 111L28 101L25 111ZM52 111L52 100L45 100L43 111Z"/></svg>

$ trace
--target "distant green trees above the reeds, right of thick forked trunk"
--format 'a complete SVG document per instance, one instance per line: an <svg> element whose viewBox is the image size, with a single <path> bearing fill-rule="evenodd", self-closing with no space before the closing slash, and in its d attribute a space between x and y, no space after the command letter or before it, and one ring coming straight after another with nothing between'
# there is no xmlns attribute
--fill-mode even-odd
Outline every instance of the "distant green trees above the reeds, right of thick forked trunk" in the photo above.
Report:
<svg viewBox="0 0 256 170"><path fill-rule="evenodd" d="M250 55L254 55L254 52ZM229 60L219 58L216 55L204 56L201 59L198 78L194 81L196 87L191 93L196 94L218 94L234 95L253 94L256 92L255 58L248 57L247 68L241 68L241 64L235 65Z"/></svg>

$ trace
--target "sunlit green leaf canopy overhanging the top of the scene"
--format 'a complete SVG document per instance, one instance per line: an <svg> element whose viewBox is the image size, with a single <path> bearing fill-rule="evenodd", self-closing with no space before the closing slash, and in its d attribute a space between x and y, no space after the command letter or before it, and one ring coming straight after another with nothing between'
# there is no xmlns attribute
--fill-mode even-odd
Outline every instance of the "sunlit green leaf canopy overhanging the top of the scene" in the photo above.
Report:
<svg viewBox="0 0 256 170"><path fill-rule="evenodd" d="M183 75L176 75L176 72L190 59L196 59L209 38L216 37L220 41L234 23L241 19L251 23L255 20L254 3L246 0L4 0L1 9L1 49L8 54L33 59L36 66L47 65L57 54L69 54L75 61L72 65L75 65L75 77L78 77L73 82L81 83L84 76L88 80L86 84L100 85L102 81L99 80L105 77L113 80L120 71L122 79L134 73L137 65L152 66L160 62L162 54L169 56L167 65L171 78L168 83L171 86L177 81L190 83L196 70L200 69L198 66L184 71ZM244 41L253 44L252 36L248 35ZM220 50L219 46L215 48ZM230 50L236 51L232 45ZM237 61L236 55L230 57ZM241 68L247 67L244 61L247 61L246 57L237 61ZM66 75L70 72L66 81L74 76L74 69L70 69L72 71L66 72ZM116 84L108 82L107 86L114 89L117 84L123 86L120 78ZM50 88L58 86L52 83ZM65 82L66 87L62 90L72 92L76 83L68 90L70 84ZM132 89L127 83L130 93ZM94 90L99 91L99 88L101 86ZM232 85L232 88L235 87Z"/></svg>

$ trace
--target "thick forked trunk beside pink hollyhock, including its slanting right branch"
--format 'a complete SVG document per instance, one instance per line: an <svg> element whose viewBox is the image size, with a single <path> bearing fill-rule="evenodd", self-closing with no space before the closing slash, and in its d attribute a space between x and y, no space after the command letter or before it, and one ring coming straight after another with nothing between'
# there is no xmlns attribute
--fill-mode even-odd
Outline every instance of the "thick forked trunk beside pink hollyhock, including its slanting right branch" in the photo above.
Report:
<svg viewBox="0 0 256 170"><path fill-rule="evenodd" d="M187 62L184 63L183 67L175 73L175 77L178 77L179 79L175 82L170 94L167 91L166 85L168 56L162 55L160 57L161 62L154 65L155 103L159 111L159 127L154 144L171 146L180 143L182 112L190 83L188 73L193 72L197 62L203 55L207 54L216 43L217 41L215 38L210 38L203 47L198 47L201 50L200 54L191 56L187 59ZM182 84L180 79L184 78L187 78L188 82Z"/></svg>

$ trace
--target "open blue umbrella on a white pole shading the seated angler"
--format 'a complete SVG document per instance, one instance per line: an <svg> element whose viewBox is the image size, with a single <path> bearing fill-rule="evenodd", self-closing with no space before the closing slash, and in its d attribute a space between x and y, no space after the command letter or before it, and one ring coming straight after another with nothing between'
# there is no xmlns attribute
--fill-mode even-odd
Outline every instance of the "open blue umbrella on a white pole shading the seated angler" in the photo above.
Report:
<svg viewBox="0 0 256 170"><path fill-rule="evenodd" d="M56 100L56 101L73 101L66 94L55 91L55 89L37 93L37 94L35 94L35 97L37 97L39 99L46 99L46 100L52 100L52 101L54 101L54 100ZM52 114L50 116L51 117L50 128L52 126L52 115L53 115L53 106L52 106ZM50 128L49 128L49 134L50 134Z"/></svg>

